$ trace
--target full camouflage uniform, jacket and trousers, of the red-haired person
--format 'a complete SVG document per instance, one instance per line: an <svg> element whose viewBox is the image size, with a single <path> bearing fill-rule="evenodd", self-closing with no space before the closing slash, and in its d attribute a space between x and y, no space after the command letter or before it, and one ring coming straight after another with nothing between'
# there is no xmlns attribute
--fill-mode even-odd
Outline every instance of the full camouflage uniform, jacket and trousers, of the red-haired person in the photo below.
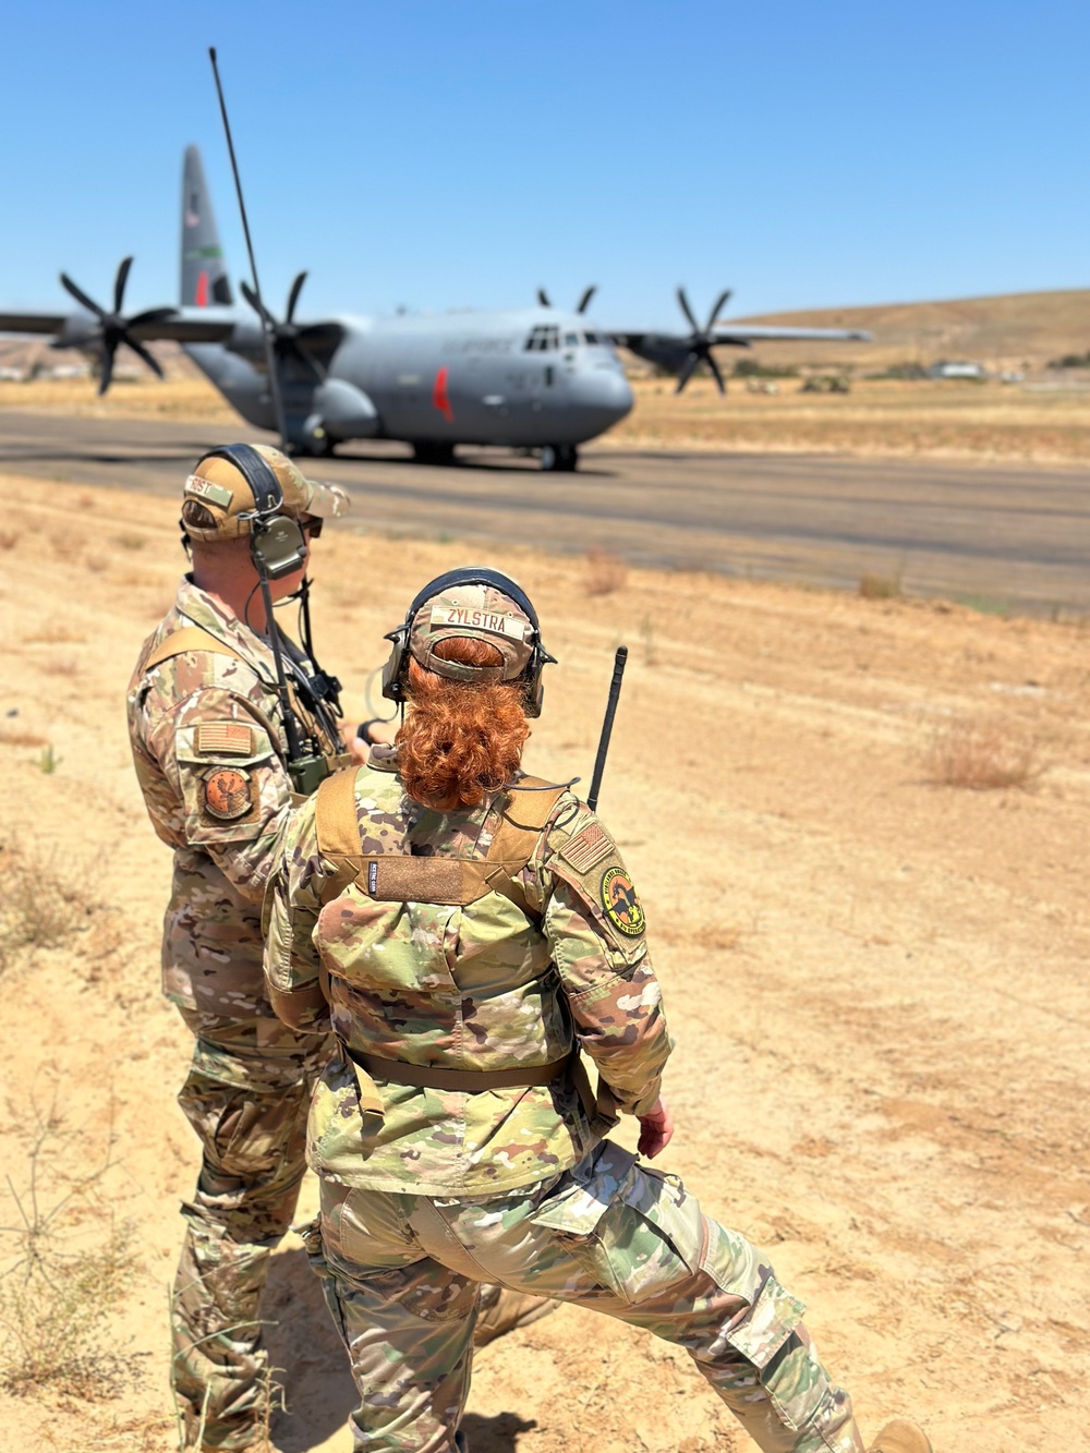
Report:
<svg viewBox="0 0 1090 1453"><path fill-rule="evenodd" d="M391 838L417 859L488 851L507 793L427 811L391 766L372 753L355 779L365 854ZM343 1046L311 1103L321 1218L308 1241L362 1398L356 1444L453 1446L478 1283L494 1280L683 1345L763 1449L862 1449L802 1303L767 1261L676 1177L602 1139L613 1110L655 1104L670 1040L642 907L594 814L558 799L517 878L529 912L501 892L440 907L376 901L356 882L323 891L339 870L310 801L270 878L266 978L279 992L326 981ZM549 1084L481 1093L417 1088L375 1065L494 1071L574 1045L599 1071L596 1101L576 1059Z"/></svg>

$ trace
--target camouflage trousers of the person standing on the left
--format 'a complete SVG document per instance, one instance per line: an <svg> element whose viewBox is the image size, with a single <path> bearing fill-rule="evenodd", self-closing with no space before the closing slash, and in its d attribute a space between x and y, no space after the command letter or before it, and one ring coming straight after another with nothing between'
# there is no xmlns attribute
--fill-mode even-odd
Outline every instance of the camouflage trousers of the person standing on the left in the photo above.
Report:
<svg viewBox="0 0 1090 1453"><path fill-rule="evenodd" d="M311 1087L330 1051L326 1036L298 1035L269 1016L182 1010L196 1046L177 1098L202 1161L196 1193L182 1206L171 1383L189 1437L203 1425L208 1447L247 1447L265 1417L262 1289L295 1213Z"/></svg>

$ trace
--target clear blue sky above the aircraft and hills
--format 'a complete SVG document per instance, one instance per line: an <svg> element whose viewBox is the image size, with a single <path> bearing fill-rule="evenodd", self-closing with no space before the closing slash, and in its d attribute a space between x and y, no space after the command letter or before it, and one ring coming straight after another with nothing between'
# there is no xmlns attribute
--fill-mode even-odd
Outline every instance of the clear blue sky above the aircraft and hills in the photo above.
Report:
<svg viewBox="0 0 1090 1453"><path fill-rule="evenodd" d="M1090 6L1035 0L9 0L0 305L177 289L196 141L301 312L602 288L615 327L1090 283Z"/></svg>

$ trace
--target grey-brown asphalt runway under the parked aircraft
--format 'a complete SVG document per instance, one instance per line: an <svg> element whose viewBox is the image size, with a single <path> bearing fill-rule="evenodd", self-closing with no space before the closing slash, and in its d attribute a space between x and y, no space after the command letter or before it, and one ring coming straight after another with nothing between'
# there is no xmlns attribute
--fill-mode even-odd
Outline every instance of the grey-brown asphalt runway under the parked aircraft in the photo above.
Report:
<svg viewBox="0 0 1090 1453"><path fill-rule="evenodd" d="M176 494L199 452L246 424L0 410L0 472ZM1090 474L828 455L584 452L541 474L504 450L417 465L398 445L304 464L353 495L344 527L603 548L635 564L1090 613Z"/></svg>

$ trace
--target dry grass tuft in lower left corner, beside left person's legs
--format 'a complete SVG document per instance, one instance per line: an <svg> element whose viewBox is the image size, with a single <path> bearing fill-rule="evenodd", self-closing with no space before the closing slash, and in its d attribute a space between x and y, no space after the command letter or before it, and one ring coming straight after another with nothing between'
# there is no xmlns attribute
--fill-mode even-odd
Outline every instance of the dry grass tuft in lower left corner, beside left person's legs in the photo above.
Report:
<svg viewBox="0 0 1090 1453"><path fill-rule="evenodd" d="M36 1116L22 1194L7 1177L16 1221L0 1226L7 1244L0 1388L16 1396L54 1388L99 1402L119 1396L137 1367L105 1335L132 1270L131 1226L116 1221L100 1186L113 1138L96 1170L71 1174L73 1148L81 1144L81 1136L65 1133L55 1109Z"/></svg>

